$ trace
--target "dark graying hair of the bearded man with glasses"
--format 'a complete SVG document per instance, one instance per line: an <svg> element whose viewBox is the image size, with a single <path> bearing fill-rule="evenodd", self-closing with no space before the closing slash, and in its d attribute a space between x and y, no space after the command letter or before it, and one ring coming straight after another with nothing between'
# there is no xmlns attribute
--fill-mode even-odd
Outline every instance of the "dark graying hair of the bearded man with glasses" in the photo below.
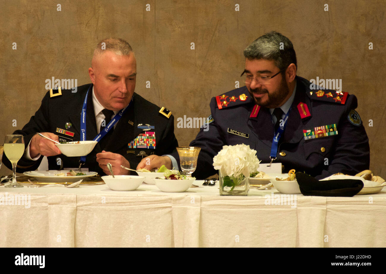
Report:
<svg viewBox="0 0 386 274"><path fill-rule="evenodd" d="M280 45L280 43L283 44ZM254 40L245 48L244 56L249 60L273 60L276 67L280 70L285 69L291 63L294 63L296 68L298 67L296 63L296 53L291 41L278 32L269 32Z"/></svg>

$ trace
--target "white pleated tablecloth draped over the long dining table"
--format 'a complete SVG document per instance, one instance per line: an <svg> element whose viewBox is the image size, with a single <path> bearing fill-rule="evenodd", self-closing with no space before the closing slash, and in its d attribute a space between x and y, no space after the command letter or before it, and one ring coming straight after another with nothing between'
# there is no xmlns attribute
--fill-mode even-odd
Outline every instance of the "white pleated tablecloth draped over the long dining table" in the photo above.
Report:
<svg viewBox="0 0 386 274"><path fill-rule="evenodd" d="M18 193L30 206L1 204ZM270 204L272 195L283 201ZM386 191L346 198L250 189L229 197L218 183L183 193L147 184L127 192L0 186L0 246L386 247Z"/></svg>

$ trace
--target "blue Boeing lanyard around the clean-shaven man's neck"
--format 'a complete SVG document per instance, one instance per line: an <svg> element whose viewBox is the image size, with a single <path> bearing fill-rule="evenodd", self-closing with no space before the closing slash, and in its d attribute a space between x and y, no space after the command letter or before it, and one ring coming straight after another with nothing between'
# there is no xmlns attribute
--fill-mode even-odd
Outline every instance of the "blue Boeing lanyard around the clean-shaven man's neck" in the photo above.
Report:
<svg viewBox="0 0 386 274"><path fill-rule="evenodd" d="M86 93L86 97L85 97L85 101L83 102L83 107L82 107L82 113L80 115L80 131L81 131L81 140L82 141L85 141L86 140L86 110L87 110L87 98L88 98L88 92L90 91L91 87L93 86L93 84L90 85L90 87L88 88L87 90L87 93ZM102 130L102 132L99 132L99 134L97 134L97 136L94 137L93 141L97 141L99 142L106 134L107 132L109 132L110 129L112 129L114 127L115 124L117 124L117 122L119 121L119 119L122 117L122 115L126 112L127 109L129 109L129 106L131 104L131 102L133 101L133 98L131 98L131 101L129 103L129 105L127 105L126 107L124 107L123 109L121 109L114 117L113 119L110 121L110 123L108 123L108 125L105 127L104 130ZM79 169L81 167L81 165L85 164L86 162L86 156L82 156L80 157L80 161L79 161Z"/></svg>

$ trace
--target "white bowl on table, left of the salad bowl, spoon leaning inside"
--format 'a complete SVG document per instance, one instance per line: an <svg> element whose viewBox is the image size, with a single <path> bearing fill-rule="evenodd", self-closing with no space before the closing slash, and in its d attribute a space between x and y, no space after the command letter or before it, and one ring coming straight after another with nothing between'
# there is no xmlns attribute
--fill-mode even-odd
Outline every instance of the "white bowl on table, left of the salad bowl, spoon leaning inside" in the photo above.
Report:
<svg viewBox="0 0 386 274"><path fill-rule="evenodd" d="M112 175L102 176L107 186L112 190L130 191L137 189L145 179L142 176L135 175Z"/></svg>

